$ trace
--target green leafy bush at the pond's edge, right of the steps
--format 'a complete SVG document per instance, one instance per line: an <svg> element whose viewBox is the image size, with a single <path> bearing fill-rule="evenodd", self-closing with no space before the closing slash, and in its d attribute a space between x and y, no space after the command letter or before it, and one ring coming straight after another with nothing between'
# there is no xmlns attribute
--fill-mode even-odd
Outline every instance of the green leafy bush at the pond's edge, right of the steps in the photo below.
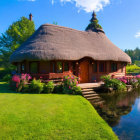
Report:
<svg viewBox="0 0 140 140"><path fill-rule="evenodd" d="M118 79L111 79L110 76L102 76L102 80L104 80L105 87L113 88L114 90L123 91L126 89L126 84Z"/></svg>

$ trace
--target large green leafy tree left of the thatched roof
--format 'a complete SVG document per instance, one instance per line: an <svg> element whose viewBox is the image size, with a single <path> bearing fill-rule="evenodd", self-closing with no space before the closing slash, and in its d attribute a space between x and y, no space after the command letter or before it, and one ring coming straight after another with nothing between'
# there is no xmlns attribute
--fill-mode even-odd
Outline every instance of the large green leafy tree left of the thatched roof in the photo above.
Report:
<svg viewBox="0 0 140 140"><path fill-rule="evenodd" d="M23 42L25 42L35 32L35 24L26 17L21 17L18 21L9 26L8 30L0 36L1 65L11 69L9 63L10 55Z"/></svg>

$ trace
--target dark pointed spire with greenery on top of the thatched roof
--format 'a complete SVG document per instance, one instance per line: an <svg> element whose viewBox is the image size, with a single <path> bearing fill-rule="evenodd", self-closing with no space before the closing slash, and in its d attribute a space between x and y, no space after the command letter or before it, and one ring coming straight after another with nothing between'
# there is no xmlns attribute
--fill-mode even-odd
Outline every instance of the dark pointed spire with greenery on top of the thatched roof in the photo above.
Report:
<svg viewBox="0 0 140 140"><path fill-rule="evenodd" d="M102 29L102 26L99 25L98 22L99 22L99 21L98 21L98 19L96 18L96 14L95 14L95 12L93 12L92 18L91 18L91 20L90 20L89 25L88 25L87 28L86 28L86 31L88 31L88 30L97 31L98 29Z"/></svg>

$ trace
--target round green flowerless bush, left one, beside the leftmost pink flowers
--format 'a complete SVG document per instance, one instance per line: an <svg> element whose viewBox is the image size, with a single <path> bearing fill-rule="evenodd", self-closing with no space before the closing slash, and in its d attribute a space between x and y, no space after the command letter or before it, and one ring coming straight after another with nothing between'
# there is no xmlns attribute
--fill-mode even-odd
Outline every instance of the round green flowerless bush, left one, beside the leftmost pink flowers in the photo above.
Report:
<svg viewBox="0 0 140 140"><path fill-rule="evenodd" d="M33 80L30 84L30 90L32 93L41 93L43 91L44 84L40 80Z"/></svg>

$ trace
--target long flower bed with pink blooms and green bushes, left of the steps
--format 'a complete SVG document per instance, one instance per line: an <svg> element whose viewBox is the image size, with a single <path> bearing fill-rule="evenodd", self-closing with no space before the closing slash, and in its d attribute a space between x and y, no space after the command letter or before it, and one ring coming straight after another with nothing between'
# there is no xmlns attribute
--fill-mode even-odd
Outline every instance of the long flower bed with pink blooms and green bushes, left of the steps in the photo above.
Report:
<svg viewBox="0 0 140 140"><path fill-rule="evenodd" d="M65 76L60 85L55 85L53 81L43 83L42 79L32 79L29 74L14 75L11 79L13 90L22 93L67 93L81 94L81 88L78 87L78 78L70 75Z"/></svg>

